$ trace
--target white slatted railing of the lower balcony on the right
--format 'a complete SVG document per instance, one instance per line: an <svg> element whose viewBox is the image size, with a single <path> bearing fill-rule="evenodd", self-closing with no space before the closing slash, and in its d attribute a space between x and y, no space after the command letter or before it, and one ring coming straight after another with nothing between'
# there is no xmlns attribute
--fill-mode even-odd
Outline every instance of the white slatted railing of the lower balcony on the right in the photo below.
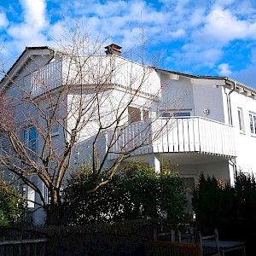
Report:
<svg viewBox="0 0 256 256"><path fill-rule="evenodd" d="M112 136L109 131L108 143ZM198 152L236 156L234 127L201 117L157 119L151 124L138 122L119 130L114 141L109 159L137 147L131 155Z"/></svg>

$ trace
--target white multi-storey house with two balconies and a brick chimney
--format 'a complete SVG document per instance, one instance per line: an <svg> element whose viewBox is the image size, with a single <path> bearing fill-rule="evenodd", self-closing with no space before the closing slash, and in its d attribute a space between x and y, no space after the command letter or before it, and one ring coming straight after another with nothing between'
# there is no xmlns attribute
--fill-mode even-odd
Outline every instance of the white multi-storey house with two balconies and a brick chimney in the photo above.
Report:
<svg viewBox="0 0 256 256"><path fill-rule="evenodd" d="M226 77L143 67L121 57L120 49L112 44L107 47L107 55L86 59L46 46L26 48L2 79L0 95L15 95L17 99L29 96L42 108L51 107L50 113L54 104L49 106L49 98L58 96L65 84L68 92L61 113L67 113L68 118L62 125L58 122L52 126L56 148L65 147L63 140L70 134L65 131L73 131L81 109L77 108L78 102L87 109L86 124L79 126L76 141L75 154L79 156L73 162L90 157L100 114L101 125L109 125L96 144L100 152L111 148L106 166L111 166L124 150L136 148L125 155L123 163L145 163L154 166L156 172L161 165L174 166L189 187L195 185L201 172L230 183L240 170L256 172L256 90ZM97 106L90 105L96 86L104 88ZM15 108L19 109L20 121L27 118L27 109L18 104ZM30 109L29 113L34 111ZM122 125L115 131L116 139L109 143L117 116ZM35 150L42 148L32 125L24 125L20 134L23 141L30 138ZM32 199L37 196L32 189L24 193ZM34 207L32 203L29 206ZM35 218L40 223L39 213Z"/></svg>

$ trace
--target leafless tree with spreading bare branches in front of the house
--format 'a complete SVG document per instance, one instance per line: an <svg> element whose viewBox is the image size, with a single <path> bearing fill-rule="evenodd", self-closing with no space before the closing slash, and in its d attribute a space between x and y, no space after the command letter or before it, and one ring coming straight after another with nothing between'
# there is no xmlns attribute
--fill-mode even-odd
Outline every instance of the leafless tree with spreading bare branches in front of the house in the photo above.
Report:
<svg viewBox="0 0 256 256"><path fill-rule="evenodd" d="M78 27L66 39L44 67L34 57L33 66L22 67L26 75L3 72L9 84L0 94L1 168L13 175L11 182L36 192L35 200L26 200L44 209L48 224L65 224L123 160L150 148L172 126L157 119L160 79L152 67L158 60L146 64L144 43L137 64L98 55L106 43L91 43ZM112 47L108 53L119 50ZM67 177L84 160L92 166L87 189L64 208Z"/></svg>

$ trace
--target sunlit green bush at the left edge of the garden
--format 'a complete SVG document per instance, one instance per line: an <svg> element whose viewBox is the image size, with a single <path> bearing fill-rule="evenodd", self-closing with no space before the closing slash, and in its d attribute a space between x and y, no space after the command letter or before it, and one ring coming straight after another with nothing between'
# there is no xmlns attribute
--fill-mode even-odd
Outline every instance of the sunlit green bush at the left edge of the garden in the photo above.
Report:
<svg viewBox="0 0 256 256"><path fill-rule="evenodd" d="M17 221L24 213L24 201L17 196L15 187L3 184L0 187L0 225L5 226Z"/></svg>

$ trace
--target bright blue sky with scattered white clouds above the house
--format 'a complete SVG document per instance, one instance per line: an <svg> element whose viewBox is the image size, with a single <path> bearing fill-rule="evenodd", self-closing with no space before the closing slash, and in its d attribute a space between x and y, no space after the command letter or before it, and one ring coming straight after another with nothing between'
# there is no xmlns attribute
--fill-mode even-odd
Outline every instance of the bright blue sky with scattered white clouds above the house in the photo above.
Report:
<svg viewBox="0 0 256 256"><path fill-rule="evenodd" d="M26 46L63 40L63 28L83 22L92 37L124 50L139 44L177 72L228 76L256 88L256 1L0 0L0 53L6 67Z"/></svg>

